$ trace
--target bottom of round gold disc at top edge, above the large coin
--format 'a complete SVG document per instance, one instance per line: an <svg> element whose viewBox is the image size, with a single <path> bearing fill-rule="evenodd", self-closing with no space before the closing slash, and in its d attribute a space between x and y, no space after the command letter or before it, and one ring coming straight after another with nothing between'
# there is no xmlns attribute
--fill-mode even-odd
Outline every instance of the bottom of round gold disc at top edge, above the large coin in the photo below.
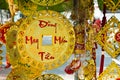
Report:
<svg viewBox="0 0 120 80"><path fill-rule="evenodd" d="M62 3L64 0L31 0L41 6L53 6Z"/></svg>

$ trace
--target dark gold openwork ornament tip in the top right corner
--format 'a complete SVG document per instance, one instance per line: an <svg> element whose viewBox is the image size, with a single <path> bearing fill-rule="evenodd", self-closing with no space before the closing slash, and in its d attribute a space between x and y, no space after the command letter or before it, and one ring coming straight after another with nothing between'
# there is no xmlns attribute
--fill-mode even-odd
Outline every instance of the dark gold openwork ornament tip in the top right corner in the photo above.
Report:
<svg viewBox="0 0 120 80"><path fill-rule="evenodd" d="M104 3L106 4L107 8L112 12L115 12L120 8L120 0L118 0L117 3L112 0L104 0Z"/></svg>

